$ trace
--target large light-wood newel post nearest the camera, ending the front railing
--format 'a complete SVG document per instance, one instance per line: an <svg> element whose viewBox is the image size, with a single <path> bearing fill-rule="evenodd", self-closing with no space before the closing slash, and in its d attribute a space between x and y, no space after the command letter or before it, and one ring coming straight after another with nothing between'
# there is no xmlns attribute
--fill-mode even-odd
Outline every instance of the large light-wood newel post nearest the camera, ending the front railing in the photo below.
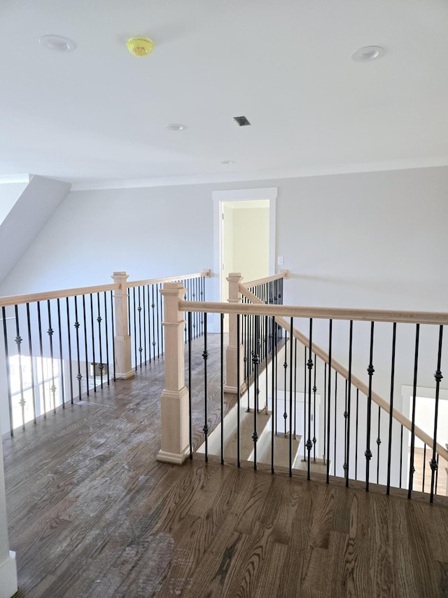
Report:
<svg viewBox="0 0 448 598"><path fill-rule="evenodd" d="M186 290L182 283L165 283L160 293L164 301L165 389L160 400L162 426L157 460L181 465L190 453L188 389L185 386L185 342L183 311L179 301Z"/></svg>

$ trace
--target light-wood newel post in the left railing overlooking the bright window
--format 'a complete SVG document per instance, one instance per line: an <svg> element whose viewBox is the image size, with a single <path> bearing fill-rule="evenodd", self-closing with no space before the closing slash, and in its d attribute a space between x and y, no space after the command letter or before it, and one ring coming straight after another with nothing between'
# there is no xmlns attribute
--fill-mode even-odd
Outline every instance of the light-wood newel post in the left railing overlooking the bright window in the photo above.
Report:
<svg viewBox="0 0 448 598"><path fill-rule="evenodd" d="M113 282L120 287L115 291L115 370L116 378L127 379L135 375L131 364L131 337L127 328L127 283L125 272L114 272Z"/></svg>

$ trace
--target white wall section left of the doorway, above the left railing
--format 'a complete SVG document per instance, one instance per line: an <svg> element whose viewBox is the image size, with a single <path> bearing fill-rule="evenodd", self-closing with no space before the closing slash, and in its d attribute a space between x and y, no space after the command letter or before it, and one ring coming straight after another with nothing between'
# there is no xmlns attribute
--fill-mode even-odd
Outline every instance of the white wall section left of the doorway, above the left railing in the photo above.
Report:
<svg viewBox="0 0 448 598"><path fill-rule="evenodd" d="M211 267L211 189L72 191L1 285L2 295L175 276Z"/></svg>

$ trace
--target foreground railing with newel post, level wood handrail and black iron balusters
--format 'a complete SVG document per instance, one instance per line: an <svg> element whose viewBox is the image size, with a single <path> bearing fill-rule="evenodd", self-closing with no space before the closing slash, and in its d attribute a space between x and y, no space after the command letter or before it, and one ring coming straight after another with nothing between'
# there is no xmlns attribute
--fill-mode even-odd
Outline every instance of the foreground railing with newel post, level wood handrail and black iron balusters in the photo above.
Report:
<svg viewBox="0 0 448 598"><path fill-rule="evenodd" d="M430 501L445 494L448 451L437 439L444 431L439 412L448 313L273 306L265 304L262 294L258 297L241 285L239 274L228 280L228 304L184 301L180 284L168 284L162 290L171 317L167 320L170 350L167 346L161 461L181 463L202 451L206 459L217 454L222 462L241 466L247 461L255 469L269 467L272 473L283 469L293 475L304 470L309 480L341 478L346 486L362 482L367 491L379 484L387 494L402 489L409 498L423 491ZM241 293L251 303L241 303ZM202 382L192 380L190 368L188 388L184 344L176 332L178 328L183 332L184 312L191 314L188 321L193 314L204 313L206 332ZM222 340L218 343L219 400L207 388L207 314L212 313L220 314L221 322L223 314L230 317L228 347L224 349ZM251 380L245 376L247 351L242 342L244 318L249 317L253 318ZM272 334L277 326L285 332L281 344ZM261 348L266 343L274 351L263 362ZM188 343L188 363L191 346ZM412 393L407 417L401 388L409 381ZM423 385L433 390L430 430L423 429L416 409L418 389ZM197 400L201 386L202 407ZM234 395L233 403L226 393ZM246 393L252 397L247 405ZM260 400L262 393L267 394L266 400ZM193 412L194 405L202 414ZM199 430L192 429L198 425ZM284 454L283 461L279 461L280 454Z"/></svg>

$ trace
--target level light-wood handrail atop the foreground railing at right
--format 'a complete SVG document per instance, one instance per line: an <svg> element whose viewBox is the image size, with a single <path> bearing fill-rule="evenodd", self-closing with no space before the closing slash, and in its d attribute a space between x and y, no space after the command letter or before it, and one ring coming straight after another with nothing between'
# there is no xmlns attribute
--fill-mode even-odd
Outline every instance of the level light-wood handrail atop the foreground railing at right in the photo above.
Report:
<svg viewBox="0 0 448 598"><path fill-rule="evenodd" d="M239 285L243 294L248 290ZM247 296L247 295L246 295ZM255 295L253 295L255 297ZM257 298L258 299L258 298ZM260 301L258 299L258 301ZM448 313L430 311L386 311L330 307L297 307L292 305L230 304L213 301L181 301L184 311L208 313L247 313L248 315L281 315L285 318L319 318L324 320L356 320L361 322L397 322L448 325Z"/></svg>

